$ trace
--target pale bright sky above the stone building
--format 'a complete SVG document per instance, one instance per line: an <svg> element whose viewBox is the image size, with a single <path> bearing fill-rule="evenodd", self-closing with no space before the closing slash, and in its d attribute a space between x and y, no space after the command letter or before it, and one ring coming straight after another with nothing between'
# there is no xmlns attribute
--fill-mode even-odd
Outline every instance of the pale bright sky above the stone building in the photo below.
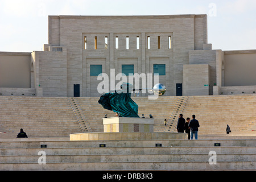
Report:
<svg viewBox="0 0 256 182"><path fill-rule="evenodd" d="M207 14L213 49L256 49L255 0L0 0L0 51L43 51L48 15Z"/></svg>

